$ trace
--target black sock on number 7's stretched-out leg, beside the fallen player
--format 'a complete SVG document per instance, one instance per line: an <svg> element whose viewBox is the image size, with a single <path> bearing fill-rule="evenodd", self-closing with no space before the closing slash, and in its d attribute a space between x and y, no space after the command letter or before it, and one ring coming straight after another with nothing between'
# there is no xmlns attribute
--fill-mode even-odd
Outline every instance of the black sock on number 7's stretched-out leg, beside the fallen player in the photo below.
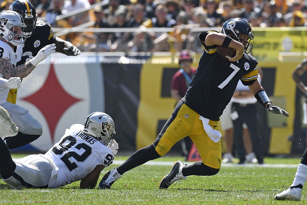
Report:
<svg viewBox="0 0 307 205"><path fill-rule="evenodd" d="M119 165L116 170L120 175L122 175L130 169L138 167L149 160L158 159L159 157L161 156L157 153L156 148L151 144L134 152L134 154L131 155L124 163Z"/></svg>

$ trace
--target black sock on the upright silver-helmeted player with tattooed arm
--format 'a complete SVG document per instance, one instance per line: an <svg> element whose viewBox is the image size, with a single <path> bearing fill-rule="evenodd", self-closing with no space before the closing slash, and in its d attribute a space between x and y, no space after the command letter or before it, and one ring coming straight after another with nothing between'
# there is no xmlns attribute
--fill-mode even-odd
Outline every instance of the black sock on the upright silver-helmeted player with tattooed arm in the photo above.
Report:
<svg viewBox="0 0 307 205"><path fill-rule="evenodd" d="M16 136L6 139L6 144L9 149L14 149L29 144L34 140L37 140L39 137L40 135L29 135L18 132Z"/></svg>

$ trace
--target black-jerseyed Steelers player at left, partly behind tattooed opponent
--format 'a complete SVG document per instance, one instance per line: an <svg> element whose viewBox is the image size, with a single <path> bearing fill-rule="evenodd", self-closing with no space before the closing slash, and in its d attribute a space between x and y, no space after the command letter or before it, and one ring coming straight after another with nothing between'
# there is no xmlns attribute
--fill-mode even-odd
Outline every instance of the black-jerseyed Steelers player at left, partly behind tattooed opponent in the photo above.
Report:
<svg viewBox="0 0 307 205"><path fill-rule="evenodd" d="M24 64L28 59L35 56L38 51L46 45L54 43L56 52L64 53L67 56L80 55L80 50L71 42L53 35L53 30L49 23L37 22L35 7L27 0L17 0L12 2L9 10L19 13L25 21L26 28L24 34L27 38L22 49L22 58L17 65ZM17 89L10 90L7 101L16 104Z"/></svg>

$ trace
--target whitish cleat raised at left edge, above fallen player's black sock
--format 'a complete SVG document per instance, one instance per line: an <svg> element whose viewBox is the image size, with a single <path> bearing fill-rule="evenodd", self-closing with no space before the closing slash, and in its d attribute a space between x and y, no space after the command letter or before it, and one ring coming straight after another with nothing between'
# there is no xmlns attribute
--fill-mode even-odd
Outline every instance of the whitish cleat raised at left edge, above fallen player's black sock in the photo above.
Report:
<svg viewBox="0 0 307 205"><path fill-rule="evenodd" d="M18 133L17 125L11 120L9 113L0 106L0 136L5 137L15 136Z"/></svg>

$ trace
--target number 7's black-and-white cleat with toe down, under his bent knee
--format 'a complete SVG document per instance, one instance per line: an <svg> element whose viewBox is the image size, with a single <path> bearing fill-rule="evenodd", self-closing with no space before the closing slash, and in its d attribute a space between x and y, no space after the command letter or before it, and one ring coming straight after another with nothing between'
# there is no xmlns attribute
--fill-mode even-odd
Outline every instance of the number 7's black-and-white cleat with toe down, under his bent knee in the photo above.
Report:
<svg viewBox="0 0 307 205"><path fill-rule="evenodd" d="M180 179L187 179L187 176L182 175L182 168L184 166L186 166L186 164L183 164L180 160L174 162L171 171L161 179L159 189L167 189L172 183L176 181L180 183Z"/></svg>

